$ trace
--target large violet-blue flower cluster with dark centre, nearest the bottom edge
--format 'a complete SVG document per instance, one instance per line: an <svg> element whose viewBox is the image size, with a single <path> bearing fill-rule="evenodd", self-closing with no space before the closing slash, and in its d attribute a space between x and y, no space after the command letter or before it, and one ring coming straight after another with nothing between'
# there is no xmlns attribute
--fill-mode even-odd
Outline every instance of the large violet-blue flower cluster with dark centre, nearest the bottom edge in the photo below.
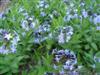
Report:
<svg viewBox="0 0 100 75"><path fill-rule="evenodd" d="M54 69L59 69L58 63L62 63L62 69L59 71L61 75L71 75L70 73L77 73L75 65L77 64L76 54L68 49L57 50L53 49Z"/></svg>

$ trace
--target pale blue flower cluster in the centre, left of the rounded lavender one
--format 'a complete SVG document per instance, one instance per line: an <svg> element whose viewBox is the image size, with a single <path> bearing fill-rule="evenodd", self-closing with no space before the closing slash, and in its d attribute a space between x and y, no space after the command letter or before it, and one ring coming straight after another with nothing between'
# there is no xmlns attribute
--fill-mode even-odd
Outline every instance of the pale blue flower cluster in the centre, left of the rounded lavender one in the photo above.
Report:
<svg viewBox="0 0 100 75"><path fill-rule="evenodd" d="M48 33L50 31L50 24L48 22L44 22L41 24L36 31L34 31L35 43L40 43L46 40L48 37Z"/></svg>

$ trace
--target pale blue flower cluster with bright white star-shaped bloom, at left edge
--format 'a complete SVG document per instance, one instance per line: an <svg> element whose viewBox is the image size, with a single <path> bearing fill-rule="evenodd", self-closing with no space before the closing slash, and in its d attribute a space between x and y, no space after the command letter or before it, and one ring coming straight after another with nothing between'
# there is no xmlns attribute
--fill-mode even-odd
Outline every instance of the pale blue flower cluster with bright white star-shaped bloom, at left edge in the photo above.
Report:
<svg viewBox="0 0 100 75"><path fill-rule="evenodd" d="M0 54L9 54L16 52L17 42L20 39L16 32L10 33L7 30L0 29L0 40L3 43L0 46Z"/></svg>

